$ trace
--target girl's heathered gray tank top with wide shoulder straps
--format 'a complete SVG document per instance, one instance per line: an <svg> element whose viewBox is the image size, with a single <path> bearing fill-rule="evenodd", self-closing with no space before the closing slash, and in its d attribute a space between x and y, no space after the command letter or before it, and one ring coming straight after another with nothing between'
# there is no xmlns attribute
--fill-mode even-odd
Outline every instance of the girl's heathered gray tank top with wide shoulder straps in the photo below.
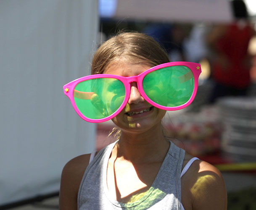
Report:
<svg viewBox="0 0 256 210"><path fill-rule="evenodd" d="M87 166L78 192L79 210L181 210L181 169L185 151L170 144L161 168L146 194L132 203L120 203L108 193L107 166L116 142L109 144Z"/></svg>

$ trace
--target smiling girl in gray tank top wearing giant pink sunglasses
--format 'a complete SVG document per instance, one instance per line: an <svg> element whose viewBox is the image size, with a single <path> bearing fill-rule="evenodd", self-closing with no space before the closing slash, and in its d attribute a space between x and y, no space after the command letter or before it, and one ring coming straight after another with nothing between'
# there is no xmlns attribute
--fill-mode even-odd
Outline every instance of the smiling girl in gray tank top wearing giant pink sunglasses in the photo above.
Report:
<svg viewBox="0 0 256 210"><path fill-rule="evenodd" d="M161 125L166 110L193 101L200 72L198 63L170 63L145 34L121 33L103 43L92 75L63 89L84 120L111 119L117 140L64 166L60 210L225 210L219 170L177 147Z"/></svg>

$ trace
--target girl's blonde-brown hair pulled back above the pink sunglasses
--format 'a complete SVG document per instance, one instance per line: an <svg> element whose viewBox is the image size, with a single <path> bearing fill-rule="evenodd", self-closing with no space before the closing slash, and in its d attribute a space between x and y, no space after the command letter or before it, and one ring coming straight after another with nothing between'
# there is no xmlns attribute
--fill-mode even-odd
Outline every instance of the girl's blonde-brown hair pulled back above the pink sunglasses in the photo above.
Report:
<svg viewBox="0 0 256 210"><path fill-rule="evenodd" d="M91 74L103 74L108 66L116 61L153 67L168 63L169 57L152 37L138 32L121 32L96 50L92 59ZM119 139L121 129L113 128L108 134L108 137L110 136Z"/></svg>

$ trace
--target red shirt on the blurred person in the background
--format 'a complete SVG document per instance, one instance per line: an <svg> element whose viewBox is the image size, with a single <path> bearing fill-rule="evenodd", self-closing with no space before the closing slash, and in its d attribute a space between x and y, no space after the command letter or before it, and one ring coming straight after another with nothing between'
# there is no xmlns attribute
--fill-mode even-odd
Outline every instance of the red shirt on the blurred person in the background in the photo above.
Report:
<svg viewBox="0 0 256 210"><path fill-rule="evenodd" d="M213 64L213 78L225 85L245 88L250 84L250 67L248 65L248 44L253 36L249 24L240 27L230 24L216 43L216 48L228 61L228 65L216 62Z"/></svg>

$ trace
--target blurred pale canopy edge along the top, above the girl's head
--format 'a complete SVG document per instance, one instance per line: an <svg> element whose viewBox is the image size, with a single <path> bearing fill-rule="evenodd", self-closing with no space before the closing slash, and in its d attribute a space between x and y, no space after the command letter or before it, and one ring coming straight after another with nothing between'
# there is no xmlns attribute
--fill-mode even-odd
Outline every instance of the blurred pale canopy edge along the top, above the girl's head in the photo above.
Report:
<svg viewBox="0 0 256 210"><path fill-rule="evenodd" d="M232 19L229 0L102 0L111 1L114 17L158 21L214 21ZM117 2L116 2L117 1ZM113 11L113 8L112 8Z"/></svg>

